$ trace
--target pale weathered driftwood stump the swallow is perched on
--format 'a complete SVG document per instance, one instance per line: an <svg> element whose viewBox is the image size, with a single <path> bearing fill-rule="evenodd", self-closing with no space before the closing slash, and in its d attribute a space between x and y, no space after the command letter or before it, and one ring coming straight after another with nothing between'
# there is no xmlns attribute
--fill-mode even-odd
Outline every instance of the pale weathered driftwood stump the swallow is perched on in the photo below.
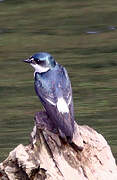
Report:
<svg viewBox="0 0 117 180"><path fill-rule="evenodd" d="M31 144L10 152L0 164L0 179L117 180L117 167L102 135L75 123L73 143L65 144L41 112L35 116Z"/></svg>

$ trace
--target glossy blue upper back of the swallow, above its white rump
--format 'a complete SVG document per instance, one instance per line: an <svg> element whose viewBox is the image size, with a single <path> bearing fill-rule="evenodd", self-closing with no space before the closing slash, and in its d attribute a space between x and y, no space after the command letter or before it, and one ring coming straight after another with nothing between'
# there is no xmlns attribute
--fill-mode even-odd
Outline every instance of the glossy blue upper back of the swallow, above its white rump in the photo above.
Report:
<svg viewBox="0 0 117 180"><path fill-rule="evenodd" d="M36 73L35 79L35 90L42 101L57 105L58 98L63 97L70 106L72 103L72 88L65 68L59 65L57 72L50 72L44 78L40 77L39 73Z"/></svg>

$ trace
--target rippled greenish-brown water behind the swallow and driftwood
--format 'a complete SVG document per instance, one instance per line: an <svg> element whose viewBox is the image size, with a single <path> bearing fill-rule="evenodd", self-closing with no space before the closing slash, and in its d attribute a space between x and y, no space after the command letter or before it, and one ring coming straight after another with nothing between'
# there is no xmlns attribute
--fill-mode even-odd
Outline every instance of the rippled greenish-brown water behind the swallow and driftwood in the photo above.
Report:
<svg viewBox="0 0 117 180"><path fill-rule="evenodd" d="M0 1L0 161L29 143L42 109L22 62L40 51L67 68L76 121L101 133L117 159L116 28L115 0Z"/></svg>

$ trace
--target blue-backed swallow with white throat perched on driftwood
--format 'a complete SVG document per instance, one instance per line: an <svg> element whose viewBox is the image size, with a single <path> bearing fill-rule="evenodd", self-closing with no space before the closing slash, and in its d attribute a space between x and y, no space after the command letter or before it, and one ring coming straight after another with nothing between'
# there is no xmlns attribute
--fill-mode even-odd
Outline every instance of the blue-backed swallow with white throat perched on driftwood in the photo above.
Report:
<svg viewBox="0 0 117 180"><path fill-rule="evenodd" d="M72 88L66 69L46 52L40 52L24 60L34 69L34 87L46 113L59 136L72 142L74 110Z"/></svg>

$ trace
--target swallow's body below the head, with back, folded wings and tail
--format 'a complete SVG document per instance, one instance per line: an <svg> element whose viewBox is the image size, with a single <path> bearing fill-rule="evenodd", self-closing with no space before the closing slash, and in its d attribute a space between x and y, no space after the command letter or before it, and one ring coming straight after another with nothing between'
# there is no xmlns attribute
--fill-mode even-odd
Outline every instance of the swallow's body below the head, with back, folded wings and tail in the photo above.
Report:
<svg viewBox="0 0 117 180"><path fill-rule="evenodd" d="M74 112L71 83L65 68L59 65L46 74L36 73L35 90L39 96L54 128L62 138L72 139L74 131Z"/></svg>

